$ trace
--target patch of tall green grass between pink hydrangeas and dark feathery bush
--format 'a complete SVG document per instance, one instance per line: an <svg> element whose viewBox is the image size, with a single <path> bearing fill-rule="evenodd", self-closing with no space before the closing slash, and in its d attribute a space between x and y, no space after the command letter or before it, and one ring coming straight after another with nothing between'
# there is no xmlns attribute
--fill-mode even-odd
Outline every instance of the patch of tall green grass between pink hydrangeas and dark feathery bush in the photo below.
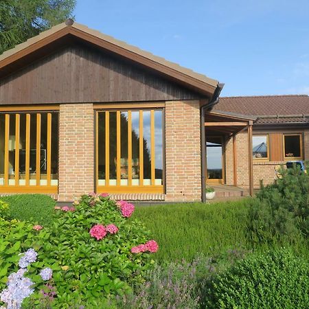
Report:
<svg viewBox="0 0 309 309"><path fill-rule="evenodd" d="M225 203L137 206L133 218L157 240L159 262L214 256L228 249L250 249L247 199Z"/></svg>

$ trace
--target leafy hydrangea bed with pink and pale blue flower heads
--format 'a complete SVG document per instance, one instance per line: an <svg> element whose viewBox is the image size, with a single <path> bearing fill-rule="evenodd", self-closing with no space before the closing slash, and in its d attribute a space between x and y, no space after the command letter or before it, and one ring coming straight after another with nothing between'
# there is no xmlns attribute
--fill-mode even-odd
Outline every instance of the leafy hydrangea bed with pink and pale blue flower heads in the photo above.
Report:
<svg viewBox="0 0 309 309"><path fill-rule="evenodd" d="M12 223L3 210L0 231L10 231L0 236L1 301L10 308L10 276L16 274L27 280L26 308L43 303L47 308L95 306L96 299L130 291L143 282L154 264L150 253L158 249L141 222L128 220L133 211L134 205L116 203L106 194L88 194L73 206L56 206L51 227ZM25 270L22 275L19 268Z"/></svg>

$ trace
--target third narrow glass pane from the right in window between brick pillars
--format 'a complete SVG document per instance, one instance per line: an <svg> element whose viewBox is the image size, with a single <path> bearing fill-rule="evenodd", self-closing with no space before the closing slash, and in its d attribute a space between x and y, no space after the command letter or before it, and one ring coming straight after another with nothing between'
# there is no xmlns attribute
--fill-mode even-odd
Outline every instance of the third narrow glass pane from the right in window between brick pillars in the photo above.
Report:
<svg viewBox="0 0 309 309"><path fill-rule="evenodd" d="M132 112L132 185L139 185L139 112Z"/></svg>

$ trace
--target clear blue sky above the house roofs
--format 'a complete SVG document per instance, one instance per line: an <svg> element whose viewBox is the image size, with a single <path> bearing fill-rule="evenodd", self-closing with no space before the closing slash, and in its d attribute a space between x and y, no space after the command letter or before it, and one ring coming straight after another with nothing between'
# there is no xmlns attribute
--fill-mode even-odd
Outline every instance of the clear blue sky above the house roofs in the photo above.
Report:
<svg viewBox="0 0 309 309"><path fill-rule="evenodd" d="M78 0L76 21L225 83L309 93L308 0Z"/></svg>

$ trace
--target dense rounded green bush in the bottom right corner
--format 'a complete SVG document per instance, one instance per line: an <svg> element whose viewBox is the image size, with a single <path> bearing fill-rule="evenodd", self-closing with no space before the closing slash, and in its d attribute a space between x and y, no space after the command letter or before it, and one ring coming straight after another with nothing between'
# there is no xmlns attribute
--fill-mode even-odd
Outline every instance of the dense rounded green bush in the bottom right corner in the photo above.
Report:
<svg viewBox="0 0 309 309"><path fill-rule="evenodd" d="M207 308L308 308L309 262L287 249L251 255L207 290Z"/></svg>

